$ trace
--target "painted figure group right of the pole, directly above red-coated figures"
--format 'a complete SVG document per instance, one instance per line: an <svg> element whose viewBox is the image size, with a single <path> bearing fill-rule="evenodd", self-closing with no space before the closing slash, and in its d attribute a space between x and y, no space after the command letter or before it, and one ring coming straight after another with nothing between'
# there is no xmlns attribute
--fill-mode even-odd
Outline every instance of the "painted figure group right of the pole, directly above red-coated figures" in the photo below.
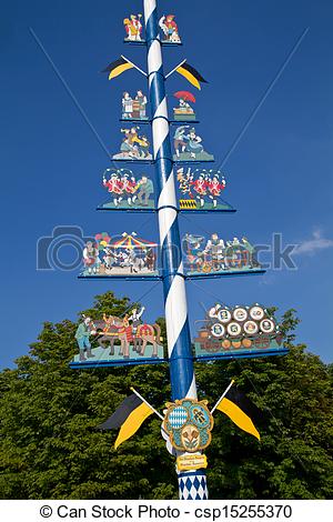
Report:
<svg viewBox="0 0 333 522"><path fill-rule="evenodd" d="M205 152L202 138L196 134L194 128L181 126L175 129L173 135L175 154L174 161L213 161L214 157Z"/></svg>

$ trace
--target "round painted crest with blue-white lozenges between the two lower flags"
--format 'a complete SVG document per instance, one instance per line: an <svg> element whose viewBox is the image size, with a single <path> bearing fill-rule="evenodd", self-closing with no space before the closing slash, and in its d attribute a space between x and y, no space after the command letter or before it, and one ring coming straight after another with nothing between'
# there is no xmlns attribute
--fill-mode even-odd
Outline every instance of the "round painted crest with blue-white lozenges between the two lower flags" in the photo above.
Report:
<svg viewBox="0 0 333 522"><path fill-rule="evenodd" d="M214 421L206 403L208 401L194 399L167 403L163 430L170 436L173 448L194 453L210 444Z"/></svg>

